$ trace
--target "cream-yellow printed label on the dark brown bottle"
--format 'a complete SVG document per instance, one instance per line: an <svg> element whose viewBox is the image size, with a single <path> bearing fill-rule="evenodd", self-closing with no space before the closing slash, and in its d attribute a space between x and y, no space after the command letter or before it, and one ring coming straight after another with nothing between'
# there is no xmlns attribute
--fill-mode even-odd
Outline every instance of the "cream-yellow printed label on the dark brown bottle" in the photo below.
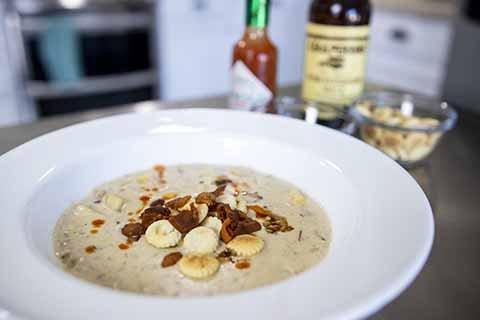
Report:
<svg viewBox="0 0 480 320"><path fill-rule="evenodd" d="M368 26L309 23L305 43L302 97L348 105L364 88Z"/></svg>

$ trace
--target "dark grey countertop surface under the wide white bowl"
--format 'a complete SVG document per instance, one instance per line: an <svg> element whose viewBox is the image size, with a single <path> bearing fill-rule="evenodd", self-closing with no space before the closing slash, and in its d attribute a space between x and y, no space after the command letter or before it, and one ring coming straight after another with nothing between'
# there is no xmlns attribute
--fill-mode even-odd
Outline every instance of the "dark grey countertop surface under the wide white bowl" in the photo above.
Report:
<svg viewBox="0 0 480 320"><path fill-rule="evenodd" d="M282 95L296 93L295 87L281 90ZM41 134L108 115L225 105L226 99L218 97L174 103L147 102L0 128L0 154ZM461 113L457 128L445 136L428 163L410 171L434 208L433 250L415 282L372 319L480 318L479 128L480 117Z"/></svg>

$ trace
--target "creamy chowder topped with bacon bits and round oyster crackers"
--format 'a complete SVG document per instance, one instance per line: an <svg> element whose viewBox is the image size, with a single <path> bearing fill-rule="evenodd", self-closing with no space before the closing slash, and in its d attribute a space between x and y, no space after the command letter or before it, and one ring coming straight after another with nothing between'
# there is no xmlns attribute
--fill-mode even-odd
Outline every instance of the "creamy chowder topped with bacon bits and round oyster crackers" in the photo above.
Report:
<svg viewBox="0 0 480 320"><path fill-rule="evenodd" d="M292 184L249 168L197 164L156 166L101 185L54 231L67 272L163 296L272 284L318 264L330 241L326 213Z"/></svg>

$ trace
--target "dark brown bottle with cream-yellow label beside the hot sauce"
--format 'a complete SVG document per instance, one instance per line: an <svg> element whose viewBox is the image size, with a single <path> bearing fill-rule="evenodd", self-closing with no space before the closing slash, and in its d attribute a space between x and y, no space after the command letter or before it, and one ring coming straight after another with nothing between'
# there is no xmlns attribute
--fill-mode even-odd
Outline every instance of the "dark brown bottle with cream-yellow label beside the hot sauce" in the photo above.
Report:
<svg viewBox="0 0 480 320"><path fill-rule="evenodd" d="M313 0L305 44L302 97L342 107L364 89L369 38L368 0Z"/></svg>

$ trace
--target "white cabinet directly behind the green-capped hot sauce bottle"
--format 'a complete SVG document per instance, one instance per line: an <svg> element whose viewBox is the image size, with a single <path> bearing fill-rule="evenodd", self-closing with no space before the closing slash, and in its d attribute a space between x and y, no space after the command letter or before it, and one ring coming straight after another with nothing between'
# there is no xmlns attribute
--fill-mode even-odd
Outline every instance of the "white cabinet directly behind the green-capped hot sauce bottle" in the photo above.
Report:
<svg viewBox="0 0 480 320"><path fill-rule="evenodd" d="M269 30L279 50L280 85L301 80L309 2L272 0ZM233 45L245 28L245 0L163 0L157 17L161 98L227 93Z"/></svg>

